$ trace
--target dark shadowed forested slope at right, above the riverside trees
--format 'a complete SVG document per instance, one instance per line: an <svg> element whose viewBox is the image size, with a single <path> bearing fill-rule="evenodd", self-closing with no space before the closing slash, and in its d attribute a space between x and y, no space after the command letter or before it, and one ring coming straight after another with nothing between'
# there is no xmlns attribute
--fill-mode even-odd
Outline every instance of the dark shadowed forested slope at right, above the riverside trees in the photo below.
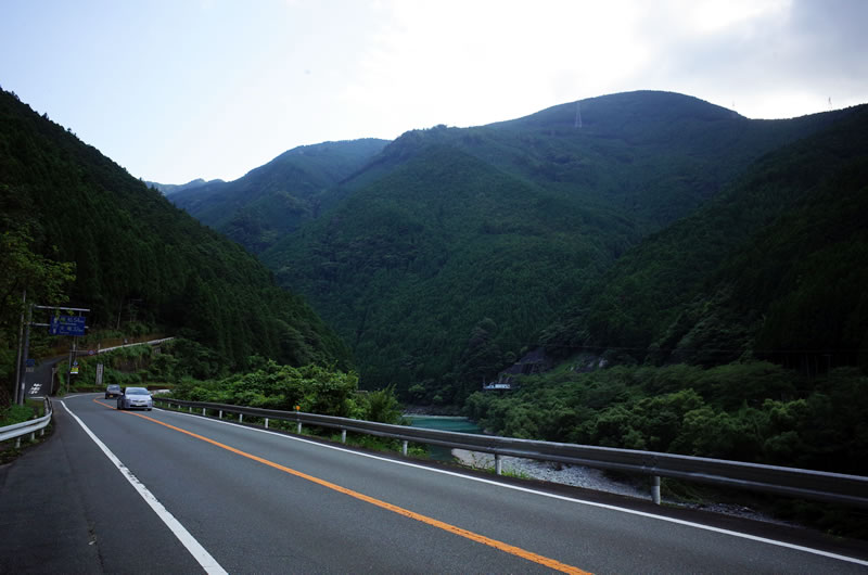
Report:
<svg viewBox="0 0 868 575"><path fill-rule="evenodd" d="M627 348L639 361L868 366L867 213L859 106L625 254L547 342Z"/></svg>

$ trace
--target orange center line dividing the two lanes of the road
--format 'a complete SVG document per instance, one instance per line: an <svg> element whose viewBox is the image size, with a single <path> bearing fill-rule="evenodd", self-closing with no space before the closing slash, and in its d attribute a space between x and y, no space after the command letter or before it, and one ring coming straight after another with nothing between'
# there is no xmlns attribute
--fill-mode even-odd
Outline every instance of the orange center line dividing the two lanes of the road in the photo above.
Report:
<svg viewBox="0 0 868 575"><path fill-rule="evenodd" d="M93 401L97 403L97 404L100 404L101 406L105 406L105 407L107 407L110 409L115 409L112 406L103 404L102 401L98 401L95 398L93 399ZM416 521L420 521L420 522L425 523L427 525L431 525L431 526L437 527L439 529L443 529L445 532L448 532L448 533L464 537L464 538L470 539L472 541L476 541L478 544L487 545L488 547L494 547L495 549L499 549L500 551L503 551L506 553L509 553L509 554L512 554L512 555L515 555L515 557L520 557L522 559L526 559L527 561L533 561L534 563L538 563L540 565L545 565L545 566L547 566L549 568L553 568L553 570L560 571L562 573L571 573L571 574L574 574L574 575L590 575L587 571L582 571L578 567L574 567L572 565L567 565L566 563L561 563L560 561L557 561L554 559L549 559L547 557L539 555L539 554L531 552L531 551L526 551L526 550L524 550L524 549L522 549L520 547L515 547L515 546L512 546L512 545L509 545L509 544L505 544L502 541L498 541L497 539L492 539L490 537L486 537L484 535L480 535L477 533L473 533L473 532L470 532L468 529L462 529L461 527L457 527L457 526L451 525L449 523L444 523L443 521L438 521L436 519L429 518L427 515L422 515L421 513L417 513L414 511L410 511L409 509L404 509L403 507L394 506L394 504L388 503L386 501L382 501L380 499L375 499L375 498L367 496L365 494L360 494L358 491L354 491L353 489L347 489L346 487L342 487L340 485L336 485L334 483L328 482L326 480L320 480L319 477L315 477L312 475L308 475L307 473L303 473L301 471L296 471L296 470L288 468L285 465L281 465L280 463L275 463L273 461L269 461L268 459L264 459L261 457L254 456L252 453L247 453L246 451L242 451L241 449L235 449L234 447L221 444L219 442L216 442L216 440L210 439L208 437L205 437L203 435L199 435L196 433L183 430L181 427L176 427L175 425L171 425L169 423L165 423L165 422L156 420L154 418L150 418L150 417L143 416L141 413L131 413L131 412L128 412L128 411L125 411L125 413L128 413L130 416L137 416L137 417L142 418L142 419L146 419L148 421L152 421L154 423L163 425L164 427L168 427L170 430L183 433L183 434L189 435L191 437L195 437L196 439L201 439L203 442L209 443L209 444L212 444L214 446L217 446L217 447L219 447L221 449L226 449L227 451L231 451L231 452L237 453L237 455L239 455L241 457L245 457L247 459L252 459L253 461L257 461L259 463L263 463L264 465L268 465L269 468L273 468L273 469L283 471L283 472L289 473L291 475L295 475L296 477L301 477L303 480L307 480L309 482L316 483L317 485L321 485L323 487L327 487L329 489L335 490L337 493L342 493L344 495L348 495L349 497L354 497L356 499L359 499L361 501L371 503L371 504L376 506L379 508L386 509L386 510L392 511L394 513L397 513L399 515L404 515L405 518L410 518L410 519L413 519Z"/></svg>

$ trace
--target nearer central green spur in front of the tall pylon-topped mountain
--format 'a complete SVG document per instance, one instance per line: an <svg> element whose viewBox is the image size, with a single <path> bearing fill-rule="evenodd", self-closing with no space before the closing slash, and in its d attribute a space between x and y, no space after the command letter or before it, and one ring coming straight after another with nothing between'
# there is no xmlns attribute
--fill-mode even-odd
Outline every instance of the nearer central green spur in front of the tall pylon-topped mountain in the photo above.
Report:
<svg viewBox="0 0 868 575"><path fill-rule="evenodd" d="M371 381L452 373L475 386L634 235L616 217L432 146L264 258L342 327ZM468 336L486 318L497 328L474 357Z"/></svg>

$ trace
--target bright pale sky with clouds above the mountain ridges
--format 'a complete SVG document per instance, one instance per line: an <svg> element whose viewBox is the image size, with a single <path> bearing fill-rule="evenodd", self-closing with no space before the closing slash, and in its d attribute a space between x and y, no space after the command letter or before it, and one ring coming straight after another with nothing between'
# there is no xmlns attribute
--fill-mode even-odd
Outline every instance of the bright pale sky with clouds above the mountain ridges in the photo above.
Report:
<svg viewBox="0 0 868 575"><path fill-rule="evenodd" d="M162 183L608 93L868 102L868 0L0 0L0 86Z"/></svg>

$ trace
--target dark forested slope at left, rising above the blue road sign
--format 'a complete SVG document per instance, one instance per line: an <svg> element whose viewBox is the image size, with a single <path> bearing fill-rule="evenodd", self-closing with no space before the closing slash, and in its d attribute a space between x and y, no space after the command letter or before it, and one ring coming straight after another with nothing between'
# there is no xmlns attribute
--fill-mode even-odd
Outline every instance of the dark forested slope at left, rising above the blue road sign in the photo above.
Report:
<svg viewBox="0 0 868 575"><path fill-rule="evenodd" d="M90 308L92 330L115 327L119 315L128 321L135 308L139 322L193 338L235 367L254 354L293 365L348 358L310 307L241 246L5 91L0 223L4 375L14 372L24 289L28 302ZM75 265L68 286L68 270L52 263Z"/></svg>

